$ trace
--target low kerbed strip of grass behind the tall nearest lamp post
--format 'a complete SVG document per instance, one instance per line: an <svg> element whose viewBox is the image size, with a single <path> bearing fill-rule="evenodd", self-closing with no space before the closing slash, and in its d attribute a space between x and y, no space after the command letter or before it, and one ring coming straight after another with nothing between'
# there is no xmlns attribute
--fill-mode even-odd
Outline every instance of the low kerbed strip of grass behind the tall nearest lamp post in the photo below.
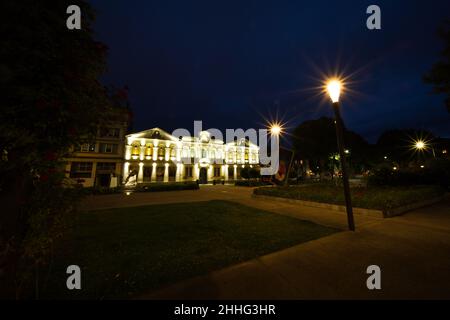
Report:
<svg viewBox="0 0 450 320"><path fill-rule="evenodd" d="M435 186L351 188L353 206L378 210L397 208L413 202L433 199L442 196L444 192L443 189ZM261 187L255 189L254 193L257 195L345 205L343 188L329 183L289 187Z"/></svg>

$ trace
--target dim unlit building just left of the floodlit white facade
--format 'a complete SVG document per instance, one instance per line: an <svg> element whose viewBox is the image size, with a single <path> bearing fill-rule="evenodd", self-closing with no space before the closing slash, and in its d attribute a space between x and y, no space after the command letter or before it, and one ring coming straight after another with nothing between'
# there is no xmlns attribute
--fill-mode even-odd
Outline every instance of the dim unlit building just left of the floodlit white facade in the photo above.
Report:
<svg viewBox="0 0 450 320"><path fill-rule="evenodd" d="M66 176L84 187L115 187L121 183L125 135L129 124L127 109L98 128L94 141L73 149L66 159Z"/></svg>

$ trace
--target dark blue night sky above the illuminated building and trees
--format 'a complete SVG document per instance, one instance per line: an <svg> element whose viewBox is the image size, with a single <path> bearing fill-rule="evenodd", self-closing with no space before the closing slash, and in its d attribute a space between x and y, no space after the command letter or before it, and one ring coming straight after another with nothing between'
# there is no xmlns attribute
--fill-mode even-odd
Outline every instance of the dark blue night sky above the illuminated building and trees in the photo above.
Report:
<svg viewBox="0 0 450 320"><path fill-rule="evenodd" d="M288 127L332 116L317 88L349 77L347 127L376 141L385 129L450 136L443 96L422 75L439 58L450 1L91 1L109 47L103 82L128 85L134 131ZM366 28L377 4L382 30Z"/></svg>

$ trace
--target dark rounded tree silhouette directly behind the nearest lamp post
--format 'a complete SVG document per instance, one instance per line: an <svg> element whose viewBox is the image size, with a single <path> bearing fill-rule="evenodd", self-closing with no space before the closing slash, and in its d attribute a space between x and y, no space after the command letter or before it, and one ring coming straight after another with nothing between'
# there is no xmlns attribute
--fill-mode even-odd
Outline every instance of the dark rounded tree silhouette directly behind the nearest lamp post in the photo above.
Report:
<svg viewBox="0 0 450 320"><path fill-rule="evenodd" d="M363 161L369 148L366 140L346 128L344 140L345 148L351 150L354 162ZM294 130L293 145L299 158L310 161L313 172L332 171L334 167L332 155L338 153L334 120L322 117L303 122Z"/></svg>

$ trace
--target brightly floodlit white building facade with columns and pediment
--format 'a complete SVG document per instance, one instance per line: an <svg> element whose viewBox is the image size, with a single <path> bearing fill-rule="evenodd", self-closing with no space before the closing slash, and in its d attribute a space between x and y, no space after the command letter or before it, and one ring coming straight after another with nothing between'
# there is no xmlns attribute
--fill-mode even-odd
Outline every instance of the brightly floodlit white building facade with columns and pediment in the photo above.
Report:
<svg viewBox="0 0 450 320"><path fill-rule="evenodd" d="M202 131L174 137L159 128L126 136L123 183L232 181L259 164L259 148L246 139L224 143Z"/></svg>

